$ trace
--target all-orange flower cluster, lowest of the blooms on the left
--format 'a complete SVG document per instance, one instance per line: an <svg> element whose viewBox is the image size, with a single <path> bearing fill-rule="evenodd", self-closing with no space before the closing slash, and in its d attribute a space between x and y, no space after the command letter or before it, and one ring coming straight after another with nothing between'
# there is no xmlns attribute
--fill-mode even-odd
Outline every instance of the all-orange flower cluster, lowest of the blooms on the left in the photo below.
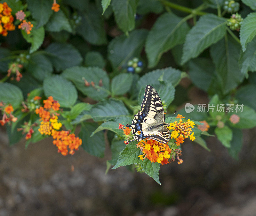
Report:
<svg viewBox="0 0 256 216"><path fill-rule="evenodd" d="M74 154L74 150L78 150L78 147L82 145L82 140L79 137L76 137L75 134L69 134L68 131L61 130L56 131L52 130L53 144L58 147L58 152L62 155ZM69 151L68 151L69 148Z"/></svg>

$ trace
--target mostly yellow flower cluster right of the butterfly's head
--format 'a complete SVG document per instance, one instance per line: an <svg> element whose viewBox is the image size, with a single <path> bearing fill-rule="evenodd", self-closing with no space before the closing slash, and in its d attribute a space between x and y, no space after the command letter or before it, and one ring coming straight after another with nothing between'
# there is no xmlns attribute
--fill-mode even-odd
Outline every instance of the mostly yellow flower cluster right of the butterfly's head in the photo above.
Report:
<svg viewBox="0 0 256 216"><path fill-rule="evenodd" d="M169 130L173 130L171 136L176 140L176 145L182 144L184 139L188 137L192 141L195 140L196 138L194 137L194 132L190 134L195 123L190 121L190 119L183 121L182 119L185 117L180 114L177 115L176 118L180 119L179 122L174 121L171 126L168 127Z"/></svg>

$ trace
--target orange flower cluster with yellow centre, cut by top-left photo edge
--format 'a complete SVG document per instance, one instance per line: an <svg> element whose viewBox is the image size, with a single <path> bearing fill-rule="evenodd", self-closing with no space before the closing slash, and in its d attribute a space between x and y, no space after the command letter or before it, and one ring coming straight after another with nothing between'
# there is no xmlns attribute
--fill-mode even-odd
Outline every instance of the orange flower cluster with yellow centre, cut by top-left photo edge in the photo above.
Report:
<svg viewBox="0 0 256 216"><path fill-rule="evenodd" d="M13 25L13 16L11 14L12 9L8 6L6 2L0 3L0 34L7 36L7 31L15 30Z"/></svg>

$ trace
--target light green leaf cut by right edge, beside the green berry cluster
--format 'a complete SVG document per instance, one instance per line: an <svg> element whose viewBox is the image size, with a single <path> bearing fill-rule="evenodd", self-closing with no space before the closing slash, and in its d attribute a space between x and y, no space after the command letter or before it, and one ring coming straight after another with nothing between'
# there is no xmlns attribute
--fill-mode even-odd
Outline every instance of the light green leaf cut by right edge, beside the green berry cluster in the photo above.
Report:
<svg viewBox="0 0 256 216"><path fill-rule="evenodd" d="M242 22L240 28L240 41L243 51L245 51L247 43L252 41L256 35L256 13L249 13Z"/></svg>

